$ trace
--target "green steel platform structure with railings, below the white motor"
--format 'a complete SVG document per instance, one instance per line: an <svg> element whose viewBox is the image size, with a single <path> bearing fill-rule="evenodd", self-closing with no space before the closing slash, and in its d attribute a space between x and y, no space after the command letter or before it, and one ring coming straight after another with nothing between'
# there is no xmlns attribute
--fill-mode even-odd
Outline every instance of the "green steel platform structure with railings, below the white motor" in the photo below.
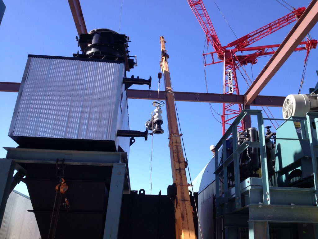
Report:
<svg viewBox="0 0 318 239"><path fill-rule="evenodd" d="M236 238L238 235L238 227L249 228L249 238L269 238L268 234L268 222L294 222L294 223L313 223L315 228L315 238L318 239L318 168L317 168L317 150L318 150L318 113L309 112L307 113L307 126L310 141L311 159L313 165L313 176L314 176L314 188L308 189L309 191L315 193L315 206L306 205L278 205L271 204L270 201L270 188L271 190L276 190L284 194L287 191L294 192L297 191L301 193L303 188L281 188L281 187L269 187L269 178L267 173L267 160L266 160L266 148L265 148L265 132L264 132L264 119L261 110L243 110L240 112L238 117L233 121L232 125L225 132L223 137L215 146L215 159L218 158L218 150L221 148L226 148L226 139L230 135L237 134L237 126L240 121L247 115L257 116L258 130L259 130L259 142L245 142L238 147L237 144L233 143L233 154L229 157L226 155L226 150L223 150L223 162L215 161L215 174L216 174L216 214L217 214L217 235L222 235L222 225L225 227L224 233L225 238ZM282 120L282 119L279 119ZM305 120L305 119L304 119ZM263 194L263 202L259 204L249 204L242 207L241 193L242 191L250 190L251 187L245 188L246 182L240 182L239 178L239 154L242 153L246 148L259 148L260 151L260 161L262 178L258 179L258 185L260 185L260 190ZM224 182L228 181L227 177L227 166L230 163L234 163L234 178L235 186L231 190L228 189L228 184L224 183L224 195L222 195L221 185L219 176L223 175ZM246 180L252 181L249 178ZM245 181L246 181L245 180ZM248 182L248 181L247 181ZM252 183L252 182L251 182ZM241 187L242 190L241 190ZM308 191L307 190L307 191ZM231 191L231 192L230 192ZM233 192L235 191L235 192ZM275 194L273 195L276 195ZM307 192L306 191L306 192ZM234 194L233 194L234 193ZM273 191L274 193L274 191ZM288 193L288 192L287 192ZM235 208L230 208L229 194L235 197ZM305 196L306 195L306 196ZM223 196L223 197L222 197ZM305 197L311 197L310 192L304 194ZM277 196L275 196L277 198ZM224 210L222 209L221 202L224 199ZM308 200L307 200L308 201ZM222 202L223 203L223 202ZM233 207L233 206L232 206ZM231 209L231 210L229 210ZM238 215L235 212L240 210L248 210L248 215ZM313 211L314 210L314 211ZM234 214L233 214L234 213ZM241 220L237 220L238 217ZM234 220L234 221L233 221ZM245 220L245 222L242 222ZM248 220L248 221L247 221ZM247 225L248 223L248 225ZM263 237L259 237L262 235Z"/></svg>

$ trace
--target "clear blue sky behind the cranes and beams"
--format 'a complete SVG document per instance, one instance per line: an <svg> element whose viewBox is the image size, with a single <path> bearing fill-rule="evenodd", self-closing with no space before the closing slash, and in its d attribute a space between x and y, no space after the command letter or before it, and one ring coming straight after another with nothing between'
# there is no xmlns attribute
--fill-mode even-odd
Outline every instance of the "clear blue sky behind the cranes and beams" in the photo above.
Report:
<svg viewBox="0 0 318 239"><path fill-rule="evenodd" d="M280 18L290 11L275 0L239 1L215 0L223 15L238 37ZM282 1L280 1L282 2ZM293 7L307 7L310 1L286 1ZM67 1L5 1L6 11L0 25L0 81L20 82L28 54L72 56L79 48L75 36L77 31ZM235 40L235 36L211 0L204 0L212 24L222 45ZM157 90L159 72L160 42L164 36L170 56L168 63L174 91L206 92L202 53L205 35L186 0L152 1L81 1L87 30L109 28L119 30L130 37L129 50L137 55L138 66L127 73L141 78L152 76L152 90ZM294 25L294 24L292 24ZM251 46L279 44L290 31L289 25ZM311 36L318 39L317 25ZM212 48L209 48L212 51ZM312 50L301 93L308 93L309 87L317 83L318 52ZM306 53L295 52L266 85L261 95L287 96L297 94ZM254 78L264 67L269 57L260 58L258 63L246 66L250 77ZM223 65L206 67L209 93L222 93ZM239 74L239 73L238 73ZM248 88L242 77L239 78L240 93ZM144 89L146 86L134 86ZM160 87L163 90L163 83ZM17 93L0 92L0 146L16 147L17 144L7 135ZM183 133L185 151L189 161L192 180L211 160L211 144L216 144L222 136L222 126L212 116L207 103L177 102L180 126ZM128 100L129 124L131 130L144 130L145 121L154 110L151 100ZM222 112L222 104L212 104L215 111ZM255 107L256 108L256 107ZM258 107L259 109L259 107ZM276 118L282 118L281 108L271 108ZM129 174L131 189L145 189L150 194L150 159L152 149L152 194L166 189L172 183L166 111L163 108L164 134L149 137L148 141L139 138L130 148ZM217 119L220 117L216 115ZM6 151L0 149L0 157ZM21 183L23 184L23 183ZM22 188L22 189L21 189ZM25 188L20 186L21 192Z"/></svg>

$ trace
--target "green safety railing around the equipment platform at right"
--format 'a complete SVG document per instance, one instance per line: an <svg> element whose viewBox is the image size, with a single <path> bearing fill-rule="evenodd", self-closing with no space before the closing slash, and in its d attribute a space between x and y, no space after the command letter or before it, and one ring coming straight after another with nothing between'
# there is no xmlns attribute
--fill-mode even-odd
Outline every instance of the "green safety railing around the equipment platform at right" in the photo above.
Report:
<svg viewBox="0 0 318 239"><path fill-rule="evenodd" d="M246 116L256 116L257 117L257 125L258 125L258 132L259 132L259 141L258 142L244 142L240 146L237 143L237 139L235 138L237 135L237 127L239 123L245 118ZM267 120L267 118L265 118ZM315 184L315 199L318 203L318 168L317 168L317 150L318 150L318 113L309 112L307 114L307 128L308 128L308 135L310 141L310 150L311 150L311 158L312 158L312 165L313 165L313 175L314 175L314 184ZM269 120L269 119L268 119ZM272 120L272 119L271 119ZM276 120L285 120L285 119L276 119ZM295 121L295 119L288 119ZM287 121L288 121L287 120ZM285 120L286 121L286 120ZM226 140L233 135L233 154L227 156L227 148ZM303 135L303 139L298 140L308 140L305 139L305 135ZM276 138L276 139L284 139L284 140L295 140L295 139L288 139L288 138ZM219 152L220 148L223 150ZM247 148L259 148L260 152L260 167L261 167L261 178L262 178L262 191L263 191L263 204L269 205L271 204L270 201L270 188L269 188L269 177L268 177L268 170L267 170L267 160L266 160L266 146L265 146L265 132L264 132L264 118L261 110L243 110L239 113L238 117L233 121L229 129L225 132L223 137L215 146L215 159L218 159L218 154L222 153L222 161L215 160L215 174L216 174L216 206L218 206L219 199L222 197L222 191L224 192L224 204L228 205L229 200L229 187L228 187L228 166L230 163L233 162L234 166L234 197L235 197L235 207L237 209L242 207L242 199L241 199L241 184L240 184L240 165L239 165L239 155L246 150ZM223 190L221 191L221 184L220 184L220 177L223 173ZM231 195L230 195L231 196ZM225 213L227 212L227 206L225 206Z"/></svg>

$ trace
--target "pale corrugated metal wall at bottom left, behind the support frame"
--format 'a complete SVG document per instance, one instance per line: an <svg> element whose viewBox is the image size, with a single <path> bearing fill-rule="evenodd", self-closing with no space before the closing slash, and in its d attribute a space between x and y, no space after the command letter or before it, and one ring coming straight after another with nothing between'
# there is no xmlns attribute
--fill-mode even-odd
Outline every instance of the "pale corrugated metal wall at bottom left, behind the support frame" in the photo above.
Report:
<svg viewBox="0 0 318 239"><path fill-rule="evenodd" d="M1 239L38 239L40 231L35 220L31 200L17 192L11 192L4 211L0 229Z"/></svg>

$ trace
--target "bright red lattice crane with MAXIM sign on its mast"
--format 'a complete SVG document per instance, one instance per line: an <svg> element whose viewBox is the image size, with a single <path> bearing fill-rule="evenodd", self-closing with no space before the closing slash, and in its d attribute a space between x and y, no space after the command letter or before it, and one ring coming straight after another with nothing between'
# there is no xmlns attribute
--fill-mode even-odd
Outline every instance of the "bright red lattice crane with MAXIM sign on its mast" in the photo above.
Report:
<svg viewBox="0 0 318 239"><path fill-rule="evenodd" d="M214 48L214 52L204 54L204 65L206 66L220 62L224 63L225 72L223 78L223 94L239 94L236 70L248 63L252 65L257 63L257 57L259 56L274 54L275 49L279 47L280 44L259 47L247 46L296 21L305 11L305 7L294 9L294 11L288 13L284 17L281 17L222 47L202 0L187 1L206 35L207 43L210 43ZM295 49L295 51L307 49L308 54L308 51L312 48L316 48L316 46L317 40L303 41L300 43L300 46ZM228 49L230 47L234 48ZM236 52L243 51L253 51L253 53L236 55ZM215 54L218 58L216 61L214 59ZM211 56L210 63L207 63L207 56ZM242 105L240 104L238 106L235 104L223 104L223 113L221 115L223 134L227 130L227 126L231 125L232 120L239 114L239 112L241 112L241 110ZM244 130L243 121L241 122L241 126L238 127L238 130Z"/></svg>

